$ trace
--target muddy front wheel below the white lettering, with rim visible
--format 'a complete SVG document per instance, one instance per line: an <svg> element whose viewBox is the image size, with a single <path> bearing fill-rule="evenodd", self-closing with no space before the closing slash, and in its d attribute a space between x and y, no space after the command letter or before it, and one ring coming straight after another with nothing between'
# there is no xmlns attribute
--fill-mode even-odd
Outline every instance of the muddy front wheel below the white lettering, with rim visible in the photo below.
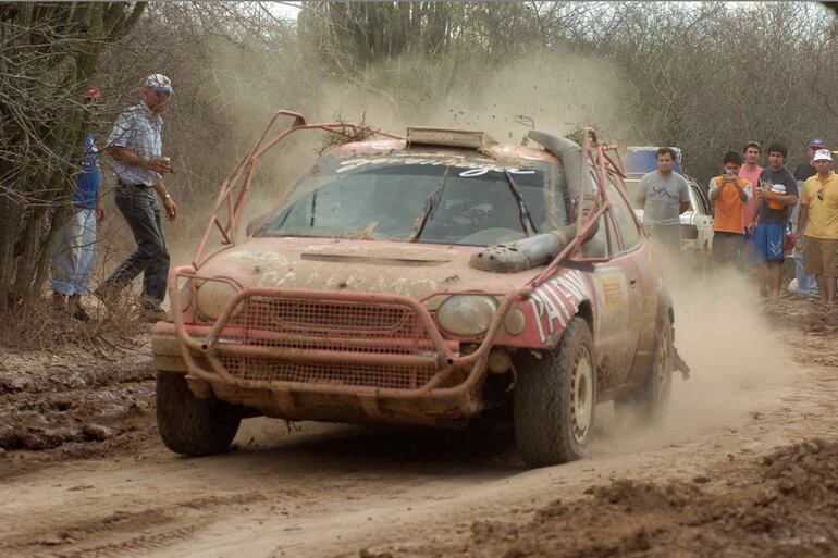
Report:
<svg viewBox="0 0 838 558"><path fill-rule="evenodd" d="M522 351L523 352L523 351ZM518 361L514 392L515 439L532 467L584 457L593 435L596 365L593 336L574 318L553 351Z"/></svg>

